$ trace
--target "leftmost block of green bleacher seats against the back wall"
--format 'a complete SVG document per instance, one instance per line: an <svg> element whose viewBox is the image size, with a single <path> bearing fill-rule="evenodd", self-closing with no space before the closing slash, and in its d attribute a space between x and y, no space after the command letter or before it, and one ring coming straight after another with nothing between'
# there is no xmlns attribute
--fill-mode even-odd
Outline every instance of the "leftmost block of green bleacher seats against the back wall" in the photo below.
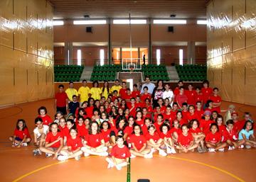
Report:
<svg viewBox="0 0 256 182"><path fill-rule="evenodd" d="M55 82L80 81L83 66L78 65L55 65Z"/></svg>

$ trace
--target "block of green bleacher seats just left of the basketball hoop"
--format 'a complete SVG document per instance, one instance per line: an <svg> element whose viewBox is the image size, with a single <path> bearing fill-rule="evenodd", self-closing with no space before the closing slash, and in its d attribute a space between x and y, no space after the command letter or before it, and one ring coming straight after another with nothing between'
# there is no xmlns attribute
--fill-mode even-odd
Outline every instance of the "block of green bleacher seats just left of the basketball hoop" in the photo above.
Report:
<svg viewBox="0 0 256 182"><path fill-rule="evenodd" d="M121 72L122 67L118 64L105 64L103 66L96 65L93 68L90 81L114 81L117 76L117 72Z"/></svg>

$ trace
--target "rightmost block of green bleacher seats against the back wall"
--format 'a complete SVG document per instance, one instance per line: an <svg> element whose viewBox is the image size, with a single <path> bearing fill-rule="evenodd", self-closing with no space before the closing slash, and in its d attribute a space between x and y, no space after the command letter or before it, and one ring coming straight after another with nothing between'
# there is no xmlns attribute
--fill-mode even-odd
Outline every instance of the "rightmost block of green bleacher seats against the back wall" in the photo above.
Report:
<svg viewBox="0 0 256 182"><path fill-rule="evenodd" d="M184 64L176 65L179 79L183 81L203 81L206 79L206 65Z"/></svg>

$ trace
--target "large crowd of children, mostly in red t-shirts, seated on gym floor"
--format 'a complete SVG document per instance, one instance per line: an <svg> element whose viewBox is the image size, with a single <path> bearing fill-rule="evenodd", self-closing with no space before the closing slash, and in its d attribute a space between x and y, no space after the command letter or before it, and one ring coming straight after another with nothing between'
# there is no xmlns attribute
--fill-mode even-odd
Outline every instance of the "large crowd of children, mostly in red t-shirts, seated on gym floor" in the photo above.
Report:
<svg viewBox="0 0 256 182"><path fill-rule="evenodd" d="M169 86L164 87L165 91L171 91ZM38 108L33 154L43 152L46 157L60 161L79 160L82 154L105 156L108 168L122 169L129 157L152 158L154 152L165 157L176 152L224 152L256 147L250 113L245 113L244 120L238 120L238 113L233 110L230 118L223 119L220 104L209 99L204 102L203 95L202 100L194 98L193 104L177 103L176 96L183 92L183 86L173 96L157 98L152 107L151 93L146 86L142 89L142 94L135 89L137 93L131 98L127 97L129 90L114 90L117 93L100 100L88 97L69 115L58 110L55 120L45 107ZM217 89L211 91L208 98L217 94ZM116 97L117 94L120 95ZM10 140L13 147L31 142L24 120L17 121Z"/></svg>

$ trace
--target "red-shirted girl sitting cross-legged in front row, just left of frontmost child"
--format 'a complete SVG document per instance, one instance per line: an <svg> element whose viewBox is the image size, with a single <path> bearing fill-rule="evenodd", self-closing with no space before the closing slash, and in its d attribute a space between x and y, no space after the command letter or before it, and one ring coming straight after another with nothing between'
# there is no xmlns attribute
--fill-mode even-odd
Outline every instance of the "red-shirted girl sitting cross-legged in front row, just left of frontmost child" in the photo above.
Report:
<svg viewBox="0 0 256 182"><path fill-rule="evenodd" d="M108 156L107 147L105 147L105 141L100 133L100 127L96 121L92 121L89 127L89 135L85 137L81 148L84 152L85 157L88 157L90 154L98 156Z"/></svg>

